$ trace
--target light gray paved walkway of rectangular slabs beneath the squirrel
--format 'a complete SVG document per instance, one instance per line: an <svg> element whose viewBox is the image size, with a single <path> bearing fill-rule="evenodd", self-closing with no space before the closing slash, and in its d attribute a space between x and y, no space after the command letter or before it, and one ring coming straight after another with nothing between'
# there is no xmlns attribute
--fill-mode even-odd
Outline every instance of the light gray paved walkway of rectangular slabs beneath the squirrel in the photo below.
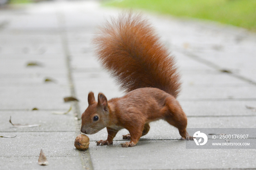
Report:
<svg viewBox="0 0 256 170"><path fill-rule="evenodd" d="M97 1L42 1L0 9L0 169L256 169L255 149L186 149L177 129L151 123L138 146L96 146L106 129L78 151L87 94L122 96L96 61L93 33L120 10ZM256 128L256 34L209 21L145 13L176 56L182 77L178 100L188 128ZM27 67L37 62L40 66ZM228 71L223 72L223 70ZM54 82L45 82L51 78ZM74 96L79 102L64 103ZM72 111L53 115L53 111ZM32 111L33 108L37 111ZM39 124L17 128L9 123ZM253 138L252 140L255 140ZM193 141L190 141L193 142ZM37 164L40 150L48 166Z"/></svg>

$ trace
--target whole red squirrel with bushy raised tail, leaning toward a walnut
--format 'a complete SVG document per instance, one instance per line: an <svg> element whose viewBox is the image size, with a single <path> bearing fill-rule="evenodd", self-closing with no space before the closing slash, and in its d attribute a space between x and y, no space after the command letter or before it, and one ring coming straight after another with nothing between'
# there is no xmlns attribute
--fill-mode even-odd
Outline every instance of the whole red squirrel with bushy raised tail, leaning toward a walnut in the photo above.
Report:
<svg viewBox="0 0 256 170"><path fill-rule="evenodd" d="M93 42L99 61L127 94L107 100L99 93L97 102L90 92L81 132L95 134L106 127L108 138L97 145L109 145L125 128L129 134L123 139L131 141L121 146L133 147L148 133L151 121L163 119L178 128L181 139L193 140L186 131L187 116L176 100L181 84L174 58L146 19L132 13L120 15L101 27Z"/></svg>

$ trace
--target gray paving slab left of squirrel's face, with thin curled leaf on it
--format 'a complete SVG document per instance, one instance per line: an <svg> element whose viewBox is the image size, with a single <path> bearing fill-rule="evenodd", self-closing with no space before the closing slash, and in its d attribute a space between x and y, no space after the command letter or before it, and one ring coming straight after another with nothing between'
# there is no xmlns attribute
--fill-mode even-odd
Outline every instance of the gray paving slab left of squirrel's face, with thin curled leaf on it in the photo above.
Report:
<svg viewBox="0 0 256 170"><path fill-rule="evenodd" d="M50 110L49 111L0 111L0 129L1 132L74 132L76 130L72 111L67 115L55 115L54 112L66 112L69 109ZM14 124L21 125L39 125L36 127L19 128Z"/></svg>

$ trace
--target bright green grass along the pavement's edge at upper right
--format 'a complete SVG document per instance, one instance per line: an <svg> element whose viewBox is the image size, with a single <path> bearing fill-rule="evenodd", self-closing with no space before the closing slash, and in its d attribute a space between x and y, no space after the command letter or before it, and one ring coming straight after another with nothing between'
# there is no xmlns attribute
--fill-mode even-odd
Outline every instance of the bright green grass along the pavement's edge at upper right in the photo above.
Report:
<svg viewBox="0 0 256 170"><path fill-rule="evenodd" d="M256 31L256 0L115 0L104 5L214 20Z"/></svg>

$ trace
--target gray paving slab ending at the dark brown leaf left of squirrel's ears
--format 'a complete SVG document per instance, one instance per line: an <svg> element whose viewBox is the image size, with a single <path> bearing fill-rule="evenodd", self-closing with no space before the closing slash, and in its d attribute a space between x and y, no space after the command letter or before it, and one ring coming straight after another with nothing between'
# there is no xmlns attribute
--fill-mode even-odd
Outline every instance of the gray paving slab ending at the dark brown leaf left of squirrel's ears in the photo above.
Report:
<svg viewBox="0 0 256 170"><path fill-rule="evenodd" d="M47 85L1 87L0 93L1 109L65 109L63 98L70 96L68 86Z"/></svg>

